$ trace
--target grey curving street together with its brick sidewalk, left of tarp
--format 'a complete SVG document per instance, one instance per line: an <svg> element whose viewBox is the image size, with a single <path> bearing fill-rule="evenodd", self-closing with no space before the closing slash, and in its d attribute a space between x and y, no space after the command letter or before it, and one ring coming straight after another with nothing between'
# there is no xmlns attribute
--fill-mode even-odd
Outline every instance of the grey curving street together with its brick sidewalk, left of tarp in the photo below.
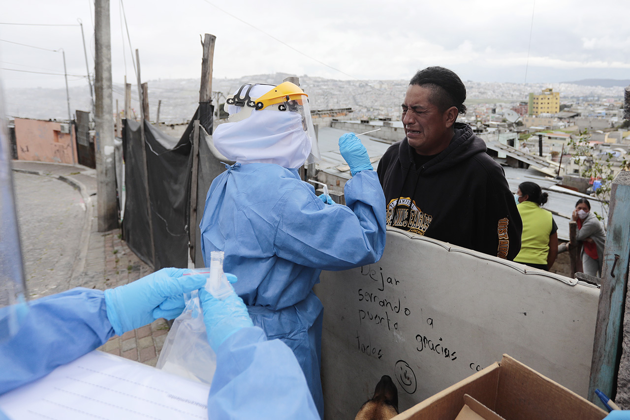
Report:
<svg viewBox="0 0 630 420"><path fill-rule="evenodd" d="M12 166L31 299L73 287L105 290L152 272L121 239L120 229L98 232L96 171L45 162L13 161ZM114 336L99 349L155 366L168 328L159 319Z"/></svg>

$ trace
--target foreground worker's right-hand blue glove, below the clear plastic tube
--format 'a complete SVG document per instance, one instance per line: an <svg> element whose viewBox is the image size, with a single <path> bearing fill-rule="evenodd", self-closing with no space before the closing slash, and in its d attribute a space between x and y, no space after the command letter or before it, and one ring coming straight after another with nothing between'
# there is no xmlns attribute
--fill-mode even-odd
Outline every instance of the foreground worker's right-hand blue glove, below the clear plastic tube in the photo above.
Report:
<svg viewBox="0 0 630 420"><path fill-rule="evenodd" d="M232 293L219 300L204 288L199 290L199 301L203 309L203 322L210 347L216 352L221 343L244 327L253 327L243 299Z"/></svg>

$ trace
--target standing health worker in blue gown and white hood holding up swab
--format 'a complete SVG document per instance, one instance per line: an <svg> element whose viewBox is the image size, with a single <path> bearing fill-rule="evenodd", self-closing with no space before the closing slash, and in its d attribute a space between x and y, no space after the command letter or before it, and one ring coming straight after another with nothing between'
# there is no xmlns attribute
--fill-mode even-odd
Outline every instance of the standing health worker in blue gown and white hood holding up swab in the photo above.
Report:
<svg viewBox="0 0 630 420"><path fill-rule="evenodd" d="M200 223L205 264L224 251L236 293L269 338L289 346L323 414L319 377L323 307L312 293L321 270L378 261L385 247L385 198L364 145L340 139L350 166L346 205L317 196L298 169L319 160L307 95L291 82L244 84L226 99L212 136L236 162L210 186Z"/></svg>

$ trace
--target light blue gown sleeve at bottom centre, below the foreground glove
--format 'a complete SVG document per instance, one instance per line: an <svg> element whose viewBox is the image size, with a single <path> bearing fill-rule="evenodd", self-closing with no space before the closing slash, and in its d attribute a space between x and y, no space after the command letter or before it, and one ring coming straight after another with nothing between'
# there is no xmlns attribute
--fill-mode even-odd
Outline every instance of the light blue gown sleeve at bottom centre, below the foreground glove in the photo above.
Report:
<svg viewBox="0 0 630 420"><path fill-rule="evenodd" d="M258 327L234 332L217 349L210 419L319 419L289 347Z"/></svg>

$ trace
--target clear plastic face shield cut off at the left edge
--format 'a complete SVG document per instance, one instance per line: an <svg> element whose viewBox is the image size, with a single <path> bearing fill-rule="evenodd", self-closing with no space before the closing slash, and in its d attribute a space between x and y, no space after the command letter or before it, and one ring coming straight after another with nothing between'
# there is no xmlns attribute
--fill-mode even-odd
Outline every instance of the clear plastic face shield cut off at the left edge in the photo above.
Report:
<svg viewBox="0 0 630 420"><path fill-rule="evenodd" d="M0 343L20 329L28 305L13 195L11 154L0 79Z"/></svg>

